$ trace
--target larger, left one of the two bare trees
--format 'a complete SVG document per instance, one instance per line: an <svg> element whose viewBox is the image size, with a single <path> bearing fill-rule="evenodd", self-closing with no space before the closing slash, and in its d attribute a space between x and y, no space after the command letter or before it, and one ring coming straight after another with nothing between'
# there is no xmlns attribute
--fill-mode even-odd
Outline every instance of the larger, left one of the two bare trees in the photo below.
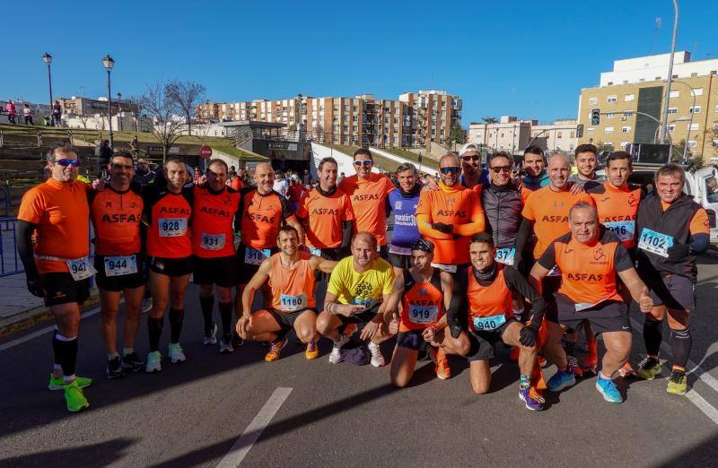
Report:
<svg viewBox="0 0 718 468"><path fill-rule="evenodd" d="M168 85L162 82L148 85L144 94L137 98L137 103L143 110L143 116L151 122L150 131L154 138L162 145L164 162L172 144L180 138L187 125L178 116L182 109L168 94Z"/></svg>

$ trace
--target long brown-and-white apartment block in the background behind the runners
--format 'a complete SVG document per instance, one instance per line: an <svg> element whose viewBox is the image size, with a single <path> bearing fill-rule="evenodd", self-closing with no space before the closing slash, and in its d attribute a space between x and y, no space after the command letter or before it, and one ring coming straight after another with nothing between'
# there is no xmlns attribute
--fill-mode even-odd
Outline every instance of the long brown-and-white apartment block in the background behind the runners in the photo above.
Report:
<svg viewBox="0 0 718 468"><path fill-rule="evenodd" d="M298 94L287 100L206 102L197 107L197 117L278 122L290 133L301 129L323 142L401 148L444 143L451 127L460 126L461 108L459 97L445 91L406 92L398 100Z"/></svg>

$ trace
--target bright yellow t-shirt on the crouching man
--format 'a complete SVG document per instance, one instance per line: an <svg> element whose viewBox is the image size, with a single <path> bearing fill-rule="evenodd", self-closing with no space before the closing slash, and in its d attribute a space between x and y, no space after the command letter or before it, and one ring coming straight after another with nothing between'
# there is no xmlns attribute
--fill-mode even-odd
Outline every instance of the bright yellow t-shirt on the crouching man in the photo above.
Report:
<svg viewBox="0 0 718 468"><path fill-rule="evenodd" d="M381 303L383 294L394 290L394 269L381 258L374 260L371 269L358 273L353 257L343 258L329 277L327 291L337 295L340 304L359 304L372 308Z"/></svg>

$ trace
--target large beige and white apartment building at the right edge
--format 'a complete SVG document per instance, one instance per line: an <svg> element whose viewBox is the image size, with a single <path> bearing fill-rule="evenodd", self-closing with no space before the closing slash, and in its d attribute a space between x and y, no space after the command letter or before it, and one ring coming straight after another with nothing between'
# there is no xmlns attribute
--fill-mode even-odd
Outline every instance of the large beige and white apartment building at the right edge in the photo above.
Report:
<svg viewBox="0 0 718 468"><path fill-rule="evenodd" d="M657 141L669 60L668 54L617 60L600 86L582 89L578 143L618 149ZM596 109L600 122L592 125ZM688 52L676 53L668 114L670 142L685 141L693 156L718 162L718 59L690 62Z"/></svg>

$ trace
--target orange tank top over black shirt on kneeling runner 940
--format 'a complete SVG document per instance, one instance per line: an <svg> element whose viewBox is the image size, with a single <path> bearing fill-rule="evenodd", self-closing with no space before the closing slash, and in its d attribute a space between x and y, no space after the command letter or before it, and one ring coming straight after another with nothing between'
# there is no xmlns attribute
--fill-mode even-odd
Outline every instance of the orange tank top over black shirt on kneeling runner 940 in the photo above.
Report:
<svg viewBox="0 0 718 468"><path fill-rule="evenodd" d="M513 316L511 307L511 290L506 286L503 278L503 264L498 266L494 282L482 286L474 276L474 267L467 269L468 284L466 294L468 298L469 329L476 330L472 317L504 315L506 319Z"/></svg>

